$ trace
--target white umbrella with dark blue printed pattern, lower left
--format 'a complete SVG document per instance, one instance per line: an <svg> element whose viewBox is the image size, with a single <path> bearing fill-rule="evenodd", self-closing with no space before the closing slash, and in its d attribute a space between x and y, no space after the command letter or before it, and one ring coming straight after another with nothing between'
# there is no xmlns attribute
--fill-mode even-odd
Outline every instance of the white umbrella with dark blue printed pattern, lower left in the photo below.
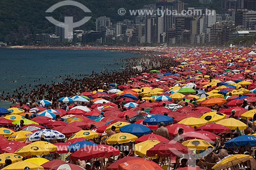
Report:
<svg viewBox="0 0 256 170"><path fill-rule="evenodd" d="M40 138L45 138L48 140L51 139L65 139L65 135L63 135L62 133L55 131L55 130L51 130L51 129L42 129L39 130L37 132L34 132L30 137L29 140L30 141L36 141L36 140L40 140Z"/></svg>

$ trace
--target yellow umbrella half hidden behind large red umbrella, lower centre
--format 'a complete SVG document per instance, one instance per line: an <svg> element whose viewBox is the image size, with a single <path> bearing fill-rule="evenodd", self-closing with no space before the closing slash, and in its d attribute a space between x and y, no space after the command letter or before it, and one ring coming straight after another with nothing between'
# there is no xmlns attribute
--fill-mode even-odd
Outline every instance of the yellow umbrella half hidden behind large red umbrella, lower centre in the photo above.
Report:
<svg viewBox="0 0 256 170"><path fill-rule="evenodd" d="M135 154L144 158L146 151L153 148L156 144L160 143L158 140L146 140L135 144Z"/></svg>

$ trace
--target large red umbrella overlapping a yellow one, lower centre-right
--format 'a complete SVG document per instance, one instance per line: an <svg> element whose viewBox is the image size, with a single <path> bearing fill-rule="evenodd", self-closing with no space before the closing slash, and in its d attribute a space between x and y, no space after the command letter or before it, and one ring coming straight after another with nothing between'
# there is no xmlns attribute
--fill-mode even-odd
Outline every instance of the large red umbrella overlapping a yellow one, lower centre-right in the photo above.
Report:
<svg viewBox="0 0 256 170"><path fill-rule="evenodd" d="M163 141L156 144L150 150L147 150L146 155L149 157L153 157L158 155L160 157L168 157L170 155L182 155L188 153L189 149L185 147L183 144L176 142L174 140L171 141Z"/></svg>

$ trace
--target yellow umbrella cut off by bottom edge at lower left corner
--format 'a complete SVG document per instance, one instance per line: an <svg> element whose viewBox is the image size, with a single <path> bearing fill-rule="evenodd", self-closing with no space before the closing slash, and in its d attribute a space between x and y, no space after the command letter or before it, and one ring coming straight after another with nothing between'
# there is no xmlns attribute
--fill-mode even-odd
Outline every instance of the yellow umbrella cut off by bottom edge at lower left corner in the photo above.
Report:
<svg viewBox="0 0 256 170"><path fill-rule="evenodd" d="M10 164L4 167L2 170L23 170L25 167L29 167L30 169L44 169L44 167L37 164L22 161Z"/></svg>

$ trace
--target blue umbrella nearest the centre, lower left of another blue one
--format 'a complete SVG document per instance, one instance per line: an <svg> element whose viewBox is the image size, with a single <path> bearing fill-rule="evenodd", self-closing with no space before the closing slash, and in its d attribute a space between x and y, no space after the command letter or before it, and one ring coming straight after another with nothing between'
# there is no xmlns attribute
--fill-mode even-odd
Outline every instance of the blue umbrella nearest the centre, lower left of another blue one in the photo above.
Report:
<svg viewBox="0 0 256 170"><path fill-rule="evenodd" d="M140 124L130 124L120 128L121 132L131 133L135 136L143 136L151 134L150 128L140 125Z"/></svg>

